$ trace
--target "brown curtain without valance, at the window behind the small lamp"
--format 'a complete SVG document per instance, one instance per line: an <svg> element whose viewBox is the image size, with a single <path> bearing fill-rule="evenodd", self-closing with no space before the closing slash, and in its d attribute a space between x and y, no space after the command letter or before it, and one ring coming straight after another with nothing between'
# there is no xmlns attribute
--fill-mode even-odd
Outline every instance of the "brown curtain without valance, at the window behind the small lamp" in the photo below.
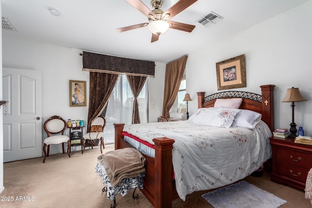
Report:
<svg viewBox="0 0 312 208"><path fill-rule="evenodd" d="M166 64L164 100L162 115L170 117L169 110L176 100L177 93L182 81L187 56Z"/></svg>

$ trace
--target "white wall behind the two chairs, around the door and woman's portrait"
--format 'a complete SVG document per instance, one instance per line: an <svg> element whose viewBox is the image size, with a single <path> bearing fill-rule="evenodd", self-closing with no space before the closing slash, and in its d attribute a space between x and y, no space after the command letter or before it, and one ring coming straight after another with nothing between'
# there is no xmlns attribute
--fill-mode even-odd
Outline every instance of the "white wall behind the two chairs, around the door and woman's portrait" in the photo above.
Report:
<svg viewBox="0 0 312 208"><path fill-rule="evenodd" d="M87 81L89 100L89 73L82 71L81 50L51 44L13 39L3 35L3 67L41 71L42 127L53 115L64 120L87 120L88 107L69 107L69 80ZM66 129L66 134L69 134ZM42 128L42 141L46 137ZM61 152L60 145L52 145L50 153Z"/></svg>

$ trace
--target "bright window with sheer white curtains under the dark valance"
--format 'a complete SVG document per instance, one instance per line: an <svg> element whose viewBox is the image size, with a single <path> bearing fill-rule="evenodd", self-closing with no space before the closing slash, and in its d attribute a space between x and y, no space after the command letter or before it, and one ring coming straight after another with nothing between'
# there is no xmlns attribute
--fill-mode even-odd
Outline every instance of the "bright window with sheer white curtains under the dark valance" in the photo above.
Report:
<svg viewBox="0 0 312 208"><path fill-rule="evenodd" d="M148 82L145 84L137 97L138 109L140 113L140 123L147 123L148 109ZM134 96L125 75L120 75L113 94L107 103L105 113L106 125L104 127L105 142L115 142L114 123L132 124ZM105 135L107 133L107 135Z"/></svg>

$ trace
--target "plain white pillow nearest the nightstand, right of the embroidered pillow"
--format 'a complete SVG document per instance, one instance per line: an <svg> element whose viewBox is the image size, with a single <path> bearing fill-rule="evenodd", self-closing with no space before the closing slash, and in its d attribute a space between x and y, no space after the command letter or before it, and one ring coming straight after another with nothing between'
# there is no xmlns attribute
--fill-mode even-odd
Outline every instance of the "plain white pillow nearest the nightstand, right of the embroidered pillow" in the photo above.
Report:
<svg viewBox="0 0 312 208"><path fill-rule="evenodd" d="M254 129L261 120L262 115L250 110L241 110L236 114L232 127L243 127L246 129Z"/></svg>

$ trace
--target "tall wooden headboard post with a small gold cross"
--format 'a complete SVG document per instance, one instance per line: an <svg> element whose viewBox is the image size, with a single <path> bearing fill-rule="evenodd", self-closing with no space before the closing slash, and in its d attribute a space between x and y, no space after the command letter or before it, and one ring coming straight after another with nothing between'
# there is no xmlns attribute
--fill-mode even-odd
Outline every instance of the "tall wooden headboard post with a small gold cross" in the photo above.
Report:
<svg viewBox="0 0 312 208"><path fill-rule="evenodd" d="M275 85L261 85L262 120L274 131L274 87Z"/></svg>

